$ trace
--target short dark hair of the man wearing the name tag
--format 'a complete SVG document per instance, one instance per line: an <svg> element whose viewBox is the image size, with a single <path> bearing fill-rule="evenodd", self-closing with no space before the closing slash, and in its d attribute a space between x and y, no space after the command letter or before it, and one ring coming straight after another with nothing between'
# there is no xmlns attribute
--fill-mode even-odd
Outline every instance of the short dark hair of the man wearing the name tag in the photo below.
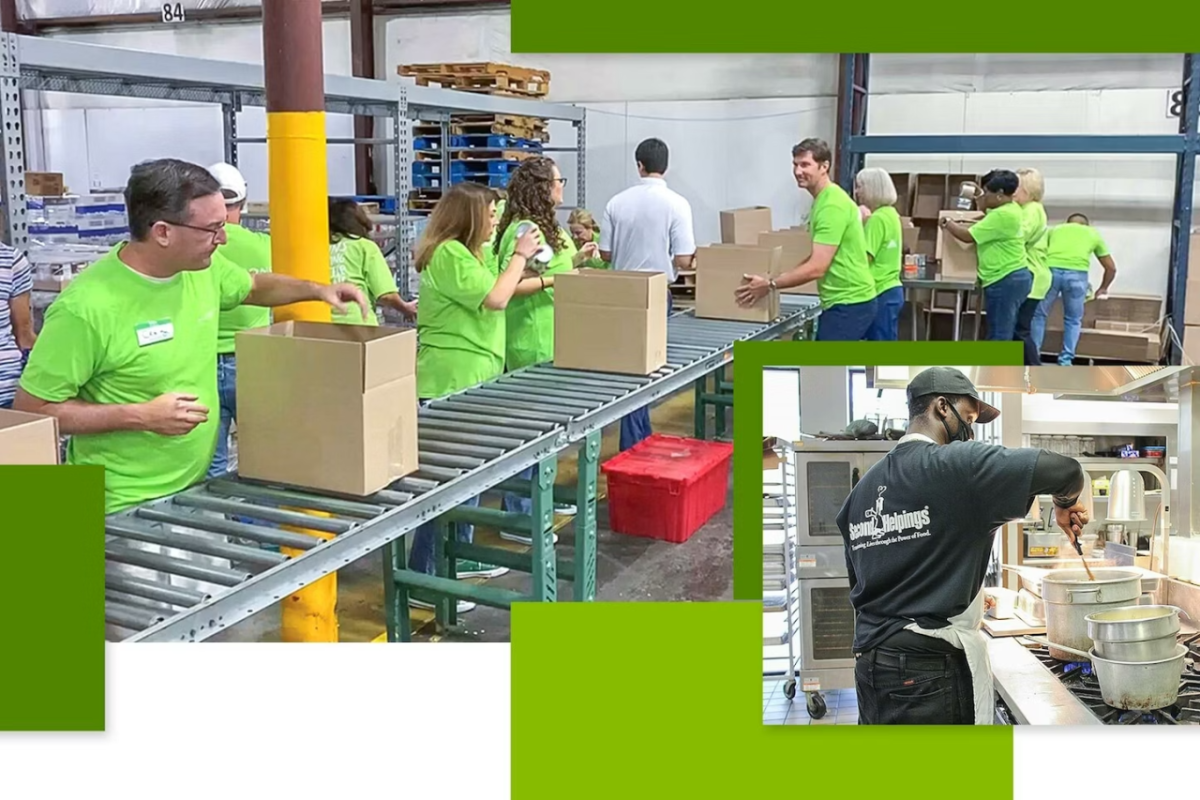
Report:
<svg viewBox="0 0 1200 800"><path fill-rule="evenodd" d="M178 158L143 161L130 170L125 185L125 209L130 237L144 241L156 222L186 223L192 200L221 196L221 184L198 164Z"/></svg>

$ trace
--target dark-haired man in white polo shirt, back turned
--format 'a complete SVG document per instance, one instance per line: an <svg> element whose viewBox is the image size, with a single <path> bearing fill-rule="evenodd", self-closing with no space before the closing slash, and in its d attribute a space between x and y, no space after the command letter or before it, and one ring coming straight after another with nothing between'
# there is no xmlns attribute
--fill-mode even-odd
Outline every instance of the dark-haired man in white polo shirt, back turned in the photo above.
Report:
<svg viewBox="0 0 1200 800"><path fill-rule="evenodd" d="M667 187L667 145L646 139L634 158L641 180L608 200L600 225L600 258L614 270L662 272L674 283L676 270L696 258L691 205ZM667 294L671 315L671 294ZM650 409L641 408L620 421L620 449L629 450L650 435Z"/></svg>

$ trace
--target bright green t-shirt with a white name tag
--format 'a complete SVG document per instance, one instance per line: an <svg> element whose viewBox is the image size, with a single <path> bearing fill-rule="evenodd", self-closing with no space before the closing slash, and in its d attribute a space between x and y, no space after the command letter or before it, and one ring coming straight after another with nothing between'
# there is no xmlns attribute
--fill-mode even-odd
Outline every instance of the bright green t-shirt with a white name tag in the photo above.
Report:
<svg viewBox="0 0 1200 800"><path fill-rule="evenodd" d="M50 403L146 403L193 395L206 422L181 437L139 431L76 434L68 464L104 468L113 513L200 481L217 443L217 317L238 307L250 272L214 253L206 270L154 279L120 259L118 245L84 270L46 312L20 387Z"/></svg>

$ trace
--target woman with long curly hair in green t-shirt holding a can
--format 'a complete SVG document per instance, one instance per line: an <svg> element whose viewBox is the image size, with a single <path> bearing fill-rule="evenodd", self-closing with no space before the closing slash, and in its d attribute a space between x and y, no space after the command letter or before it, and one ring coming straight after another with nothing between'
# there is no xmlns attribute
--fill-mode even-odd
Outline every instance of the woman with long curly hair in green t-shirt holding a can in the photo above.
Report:
<svg viewBox="0 0 1200 800"><path fill-rule="evenodd" d="M554 275L569 272L584 266L589 259L596 258L600 248L595 242L587 242L576 248L571 234L558 224L556 210L563 204L563 185L566 179L558 172L553 160L546 157L530 158L522 163L509 181L508 203L504 215L497 225L494 245L497 260L504 264L516 245L517 230L522 223L532 223L539 241L548 246L551 258L538 265L540 276L532 291L518 288L509 303L505 318L508 323L508 341L505 347L504 368L508 372L521 369L554 357ZM528 235L528 234L527 234ZM532 283L526 281L524 283ZM521 477L530 480L533 470L528 469ZM512 493L504 495L504 510L510 513L532 513L532 501L528 497ZM569 506L559 511L571 513ZM532 543L528 536L511 531L502 531L500 536L526 545ZM557 536L556 536L557 541Z"/></svg>

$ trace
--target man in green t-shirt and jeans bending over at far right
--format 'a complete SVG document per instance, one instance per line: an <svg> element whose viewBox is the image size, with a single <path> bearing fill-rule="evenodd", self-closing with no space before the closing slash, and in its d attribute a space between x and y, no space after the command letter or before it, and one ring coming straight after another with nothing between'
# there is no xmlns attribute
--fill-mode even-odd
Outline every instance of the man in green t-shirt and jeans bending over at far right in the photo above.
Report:
<svg viewBox="0 0 1200 800"><path fill-rule="evenodd" d="M1104 297L1117 277L1117 265L1112 261L1108 245L1100 233L1082 213L1067 217L1067 223L1050 230L1045 261L1050 267L1050 290L1033 313L1033 342L1042 350L1046 333L1046 317L1054 303L1062 296L1062 350L1058 365L1067 367L1075 360L1079 332L1084 326L1084 303L1087 301L1087 276L1092 257L1104 267L1097 297Z"/></svg>

